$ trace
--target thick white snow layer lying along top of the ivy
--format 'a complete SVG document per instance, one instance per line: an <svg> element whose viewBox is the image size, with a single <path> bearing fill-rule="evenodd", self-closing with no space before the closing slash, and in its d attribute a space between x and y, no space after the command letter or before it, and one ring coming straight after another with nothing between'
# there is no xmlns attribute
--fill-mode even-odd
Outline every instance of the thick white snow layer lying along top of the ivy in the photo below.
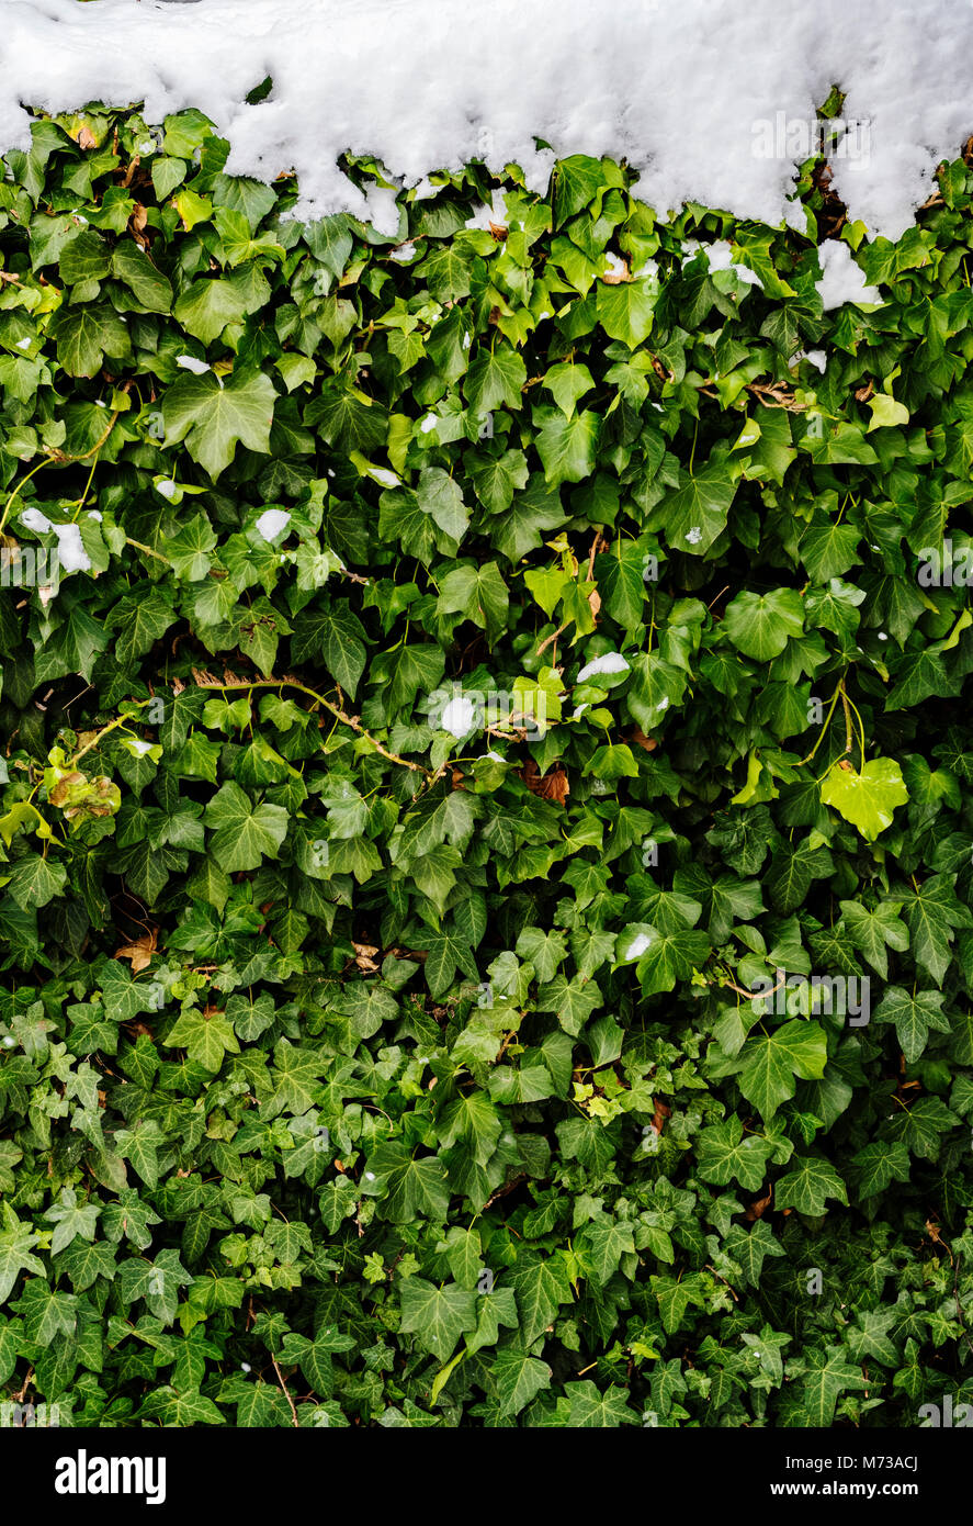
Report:
<svg viewBox="0 0 973 1526"><path fill-rule="evenodd" d="M802 226L795 160L833 84L857 119L834 186L871 233L898 237L939 159L973 131L965 0L2 0L0 145L35 108L197 107L229 169L296 169L299 214L384 229L390 192L337 168L375 154L410 185L480 157L546 183L549 151L625 156L660 212L683 200ZM256 105L246 95L273 78Z"/></svg>

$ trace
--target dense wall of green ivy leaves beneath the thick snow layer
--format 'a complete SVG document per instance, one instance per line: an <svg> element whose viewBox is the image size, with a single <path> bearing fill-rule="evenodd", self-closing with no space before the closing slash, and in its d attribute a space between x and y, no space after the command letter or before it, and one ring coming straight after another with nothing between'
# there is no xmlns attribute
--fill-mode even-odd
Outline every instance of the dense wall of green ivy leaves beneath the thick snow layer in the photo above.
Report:
<svg viewBox="0 0 973 1526"><path fill-rule="evenodd" d="M0 183L3 1398L973 1398L973 160L869 243L226 157Z"/></svg>

